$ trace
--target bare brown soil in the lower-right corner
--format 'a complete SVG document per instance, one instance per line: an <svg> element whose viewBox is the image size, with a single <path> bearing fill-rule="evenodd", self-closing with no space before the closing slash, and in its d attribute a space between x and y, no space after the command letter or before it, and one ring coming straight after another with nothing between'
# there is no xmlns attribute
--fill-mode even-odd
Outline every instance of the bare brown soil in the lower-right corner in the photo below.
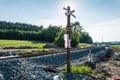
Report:
<svg viewBox="0 0 120 80"><path fill-rule="evenodd" d="M120 80L120 55L114 55L108 61L100 62L96 66L96 74L103 73L104 80Z"/></svg>

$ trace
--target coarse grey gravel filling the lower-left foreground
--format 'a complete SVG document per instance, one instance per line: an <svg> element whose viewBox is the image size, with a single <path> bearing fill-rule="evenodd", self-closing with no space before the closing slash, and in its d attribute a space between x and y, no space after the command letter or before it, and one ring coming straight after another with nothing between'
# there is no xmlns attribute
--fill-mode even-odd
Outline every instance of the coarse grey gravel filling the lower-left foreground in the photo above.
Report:
<svg viewBox="0 0 120 80"><path fill-rule="evenodd" d="M0 80L52 80L55 73L43 70L41 63L29 59L0 61Z"/></svg>

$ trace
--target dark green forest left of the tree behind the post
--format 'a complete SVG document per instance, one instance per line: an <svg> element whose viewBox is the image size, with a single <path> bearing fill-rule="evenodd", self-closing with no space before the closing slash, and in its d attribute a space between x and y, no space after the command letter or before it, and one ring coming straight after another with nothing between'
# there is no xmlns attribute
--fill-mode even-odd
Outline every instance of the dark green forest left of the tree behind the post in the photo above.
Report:
<svg viewBox="0 0 120 80"><path fill-rule="evenodd" d="M53 42L56 33L60 27L50 25L48 28L25 23L11 23L0 21L0 38L1 39L23 39L23 40L40 40Z"/></svg>

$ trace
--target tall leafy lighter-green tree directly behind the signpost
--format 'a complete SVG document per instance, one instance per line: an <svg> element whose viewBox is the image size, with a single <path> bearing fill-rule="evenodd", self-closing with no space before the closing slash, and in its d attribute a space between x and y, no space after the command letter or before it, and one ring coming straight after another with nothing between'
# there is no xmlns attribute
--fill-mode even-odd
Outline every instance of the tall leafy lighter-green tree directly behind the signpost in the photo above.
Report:
<svg viewBox="0 0 120 80"><path fill-rule="evenodd" d="M79 37L82 32L82 27L79 22L75 22L71 24L71 46L76 47L79 43ZM66 33L65 29L61 29L61 32L57 33L57 37L55 38L55 44L63 47L64 46L64 34Z"/></svg>

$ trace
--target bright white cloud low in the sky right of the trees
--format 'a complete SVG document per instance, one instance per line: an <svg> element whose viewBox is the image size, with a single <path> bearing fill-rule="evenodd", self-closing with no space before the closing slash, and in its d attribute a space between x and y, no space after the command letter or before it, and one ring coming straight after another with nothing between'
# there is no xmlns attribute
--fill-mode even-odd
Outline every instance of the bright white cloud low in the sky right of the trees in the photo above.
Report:
<svg viewBox="0 0 120 80"><path fill-rule="evenodd" d="M120 41L120 19L110 20L99 24L91 25L86 29L93 40Z"/></svg>

